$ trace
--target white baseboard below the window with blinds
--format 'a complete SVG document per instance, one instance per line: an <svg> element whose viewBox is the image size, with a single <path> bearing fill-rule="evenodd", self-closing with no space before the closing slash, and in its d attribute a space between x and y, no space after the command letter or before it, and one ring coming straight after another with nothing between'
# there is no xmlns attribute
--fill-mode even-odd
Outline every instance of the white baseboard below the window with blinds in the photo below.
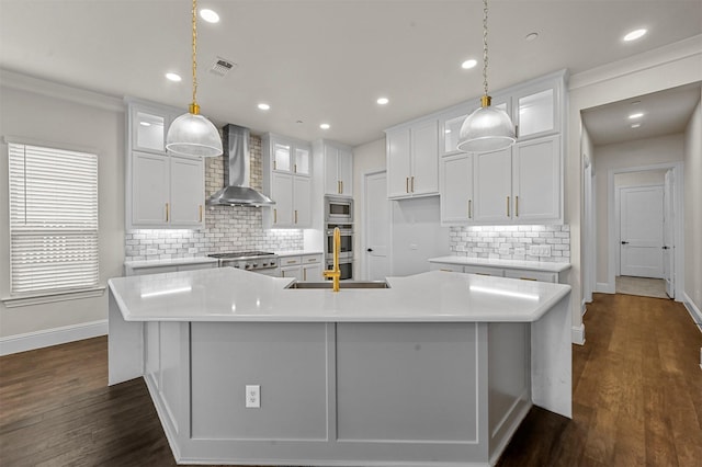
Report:
<svg viewBox="0 0 702 467"><path fill-rule="evenodd" d="M81 322L80 324L9 335L0 338L0 355L48 348L106 334L107 320L101 319L100 321Z"/></svg>

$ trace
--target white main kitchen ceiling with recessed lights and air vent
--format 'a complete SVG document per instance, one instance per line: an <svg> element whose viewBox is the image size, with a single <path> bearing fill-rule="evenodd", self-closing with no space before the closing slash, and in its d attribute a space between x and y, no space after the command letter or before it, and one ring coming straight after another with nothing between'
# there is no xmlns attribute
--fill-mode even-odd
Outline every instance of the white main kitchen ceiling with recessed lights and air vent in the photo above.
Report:
<svg viewBox="0 0 702 467"><path fill-rule="evenodd" d="M218 126L356 146L483 90L479 1L199 5L222 19L197 23L197 102ZM491 0L489 8L492 90L562 68L578 73L702 34L699 0ZM190 9L190 0L0 0L0 67L185 111L192 100ZM648 34L622 42L638 27ZM525 41L533 32L539 37ZM217 57L237 66L216 76L208 70ZM463 70L468 58L478 66ZM167 71L183 81L167 81ZM377 105L380 96L389 104ZM258 110L259 102L271 109ZM320 123L331 127L322 130Z"/></svg>

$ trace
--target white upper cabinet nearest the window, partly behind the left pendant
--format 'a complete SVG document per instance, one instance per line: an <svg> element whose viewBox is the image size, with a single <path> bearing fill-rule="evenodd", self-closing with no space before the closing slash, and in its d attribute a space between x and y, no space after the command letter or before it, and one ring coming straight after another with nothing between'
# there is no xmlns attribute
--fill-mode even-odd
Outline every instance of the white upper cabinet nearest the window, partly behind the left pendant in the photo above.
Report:
<svg viewBox="0 0 702 467"><path fill-rule="evenodd" d="M168 127L183 111L126 102L126 228L203 228L204 162L166 152Z"/></svg>

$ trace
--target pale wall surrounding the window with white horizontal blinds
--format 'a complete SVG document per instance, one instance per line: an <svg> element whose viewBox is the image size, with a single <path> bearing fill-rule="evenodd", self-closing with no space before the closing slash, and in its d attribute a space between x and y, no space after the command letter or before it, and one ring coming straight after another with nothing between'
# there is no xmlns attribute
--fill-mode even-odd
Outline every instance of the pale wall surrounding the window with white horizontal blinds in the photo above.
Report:
<svg viewBox="0 0 702 467"><path fill-rule="evenodd" d="M36 90L30 90L30 88ZM63 99L61 99L63 98ZM100 284L122 275L124 260L124 126L121 100L3 71L0 135L93 148L99 156ZM8 146L0 156L0 298L10 295ZM76 327L107 317L106 292L97 298L7 308L0 338ZM106 327L104 328L106 330Z"/></svg>

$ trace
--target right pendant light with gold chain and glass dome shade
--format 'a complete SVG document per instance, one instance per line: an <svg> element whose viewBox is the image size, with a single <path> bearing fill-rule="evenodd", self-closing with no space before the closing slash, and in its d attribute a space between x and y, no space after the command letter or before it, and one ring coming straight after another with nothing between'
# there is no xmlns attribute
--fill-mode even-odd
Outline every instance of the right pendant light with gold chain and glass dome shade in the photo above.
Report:
<svg viewBox="0 0 702 467"><path fill-rule="evenodd" d="M500 109L491 107L487 93L487 0L483 0L483 89L480 109L463 122L458 134L458 150L466 152L489 152L505 149L514 144L514 124Z"/></svg>

